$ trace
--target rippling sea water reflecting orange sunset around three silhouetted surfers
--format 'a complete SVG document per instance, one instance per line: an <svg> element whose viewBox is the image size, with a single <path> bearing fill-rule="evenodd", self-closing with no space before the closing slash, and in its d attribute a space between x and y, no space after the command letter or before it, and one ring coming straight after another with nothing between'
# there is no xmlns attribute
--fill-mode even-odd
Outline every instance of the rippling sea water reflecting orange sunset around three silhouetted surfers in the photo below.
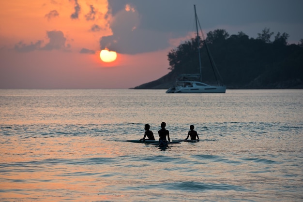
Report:
<svg viewBox="0 0 303 202"><path fill-rule="evenodd" d="M302 202L303 90L0 90L0 201Z"/></svg>

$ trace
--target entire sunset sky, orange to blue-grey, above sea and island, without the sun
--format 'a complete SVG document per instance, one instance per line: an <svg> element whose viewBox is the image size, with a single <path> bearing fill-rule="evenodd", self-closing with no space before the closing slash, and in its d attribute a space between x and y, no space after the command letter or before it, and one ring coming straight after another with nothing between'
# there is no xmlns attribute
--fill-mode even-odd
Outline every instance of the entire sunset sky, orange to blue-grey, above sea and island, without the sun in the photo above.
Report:
<svg viewBox="0 0 303 202"><path fill-rule="evenodd" d="M207 33L303 39L303 0L1 0L0 88L130 88L169 72L167 54ZM117 53L113 62L100 51Z"/></svg>

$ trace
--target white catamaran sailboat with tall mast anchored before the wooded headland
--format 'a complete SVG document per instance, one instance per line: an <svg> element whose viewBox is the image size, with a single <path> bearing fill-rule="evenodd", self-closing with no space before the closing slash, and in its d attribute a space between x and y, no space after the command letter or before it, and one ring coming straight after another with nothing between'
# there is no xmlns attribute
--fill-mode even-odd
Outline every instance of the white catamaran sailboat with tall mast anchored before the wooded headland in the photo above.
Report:
<svg viewBox="0 0 303 202"><path fill-rule="evenodd" d="M196 5L194 5L195 10L195 19L196 19L196 29L197 29L197 39L199 39L199 32L198 32L198 25L197 25L197 12L196 12ZM206 50L211 61L212 70L217 71L218 76L220 73L218 72L212 56L210 54L209 48L205 42L203 32L202 37L204 44L206 46ZM198 44L199 45L199 44ZM200 48L198 47L198 56L199 56L199 67L200 67L200 74L181 74L178 76L177 81L173 87L170 87L166 93L225 93L226 87L219 83L219 80L214 72L215 78L217 80L218 86L211 86L205 83L202 83L202 67L201 67L201 56L200 56ZM221 76L220 76L221 77ZM197 78L200 81L197 81ZM221 79L222 81L222 79Z"/></svg>

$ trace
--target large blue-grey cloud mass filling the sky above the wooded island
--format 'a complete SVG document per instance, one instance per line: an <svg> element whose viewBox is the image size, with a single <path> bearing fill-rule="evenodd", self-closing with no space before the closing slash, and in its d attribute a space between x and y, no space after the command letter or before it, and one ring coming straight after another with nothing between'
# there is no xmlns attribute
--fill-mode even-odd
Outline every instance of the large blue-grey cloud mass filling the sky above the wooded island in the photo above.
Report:
<svg viewBox="0 0 303 202"><path fill-rule="evenodd" d="M302 0L108 0L108 3L114 18L110 24L113 35L102 37L100 47L125 54L165 49L171 45L169 40L194 32L194 4L205 32L227 29L229 34L243 31L256 37L268 27L290 37L303 33ZM127 12L126 4L135 12ZM287 27L291 25L296 30Z"/></svg>

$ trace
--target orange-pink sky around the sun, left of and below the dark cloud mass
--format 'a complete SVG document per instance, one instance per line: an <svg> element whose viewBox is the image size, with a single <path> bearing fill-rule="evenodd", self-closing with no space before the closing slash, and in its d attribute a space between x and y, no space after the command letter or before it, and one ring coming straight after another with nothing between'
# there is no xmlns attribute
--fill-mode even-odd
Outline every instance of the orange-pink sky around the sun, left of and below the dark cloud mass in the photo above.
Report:
<svg viewBox="0 0 303 202"><path fill-rule="evenodd" d="M113 20L107 0L1 1L0 88L129 88L169 72L169 49L103 62Z"/></svg>

